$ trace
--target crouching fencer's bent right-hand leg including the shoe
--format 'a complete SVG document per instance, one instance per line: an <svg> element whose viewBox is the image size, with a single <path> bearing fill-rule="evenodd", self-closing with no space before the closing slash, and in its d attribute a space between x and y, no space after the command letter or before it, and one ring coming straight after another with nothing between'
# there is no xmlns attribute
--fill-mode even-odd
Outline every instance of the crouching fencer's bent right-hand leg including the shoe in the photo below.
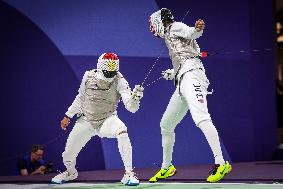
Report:
<svg viewBox="0 0 283 189"><path fill-rule="evenodd" d="M118 149L125 167L125 175L121 182L126 185L138 185L139 180L135 177L132 167L132 145L125 124L113 115L102 124L99 136L117 138Z"/></svg>

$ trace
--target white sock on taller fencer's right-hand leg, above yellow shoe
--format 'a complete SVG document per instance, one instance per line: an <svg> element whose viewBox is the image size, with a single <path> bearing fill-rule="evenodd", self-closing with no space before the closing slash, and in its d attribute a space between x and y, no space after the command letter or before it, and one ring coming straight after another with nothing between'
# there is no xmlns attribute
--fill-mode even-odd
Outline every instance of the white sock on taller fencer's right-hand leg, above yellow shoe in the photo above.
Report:
<svg viewBox="0 0 283 189"><path fill-rule="evenodd" d="M222 150L219 142L218 132L211 120L205 120L199 123L198 127L202 130L205 138L214 155L215 164L225 164Z"/></svg>

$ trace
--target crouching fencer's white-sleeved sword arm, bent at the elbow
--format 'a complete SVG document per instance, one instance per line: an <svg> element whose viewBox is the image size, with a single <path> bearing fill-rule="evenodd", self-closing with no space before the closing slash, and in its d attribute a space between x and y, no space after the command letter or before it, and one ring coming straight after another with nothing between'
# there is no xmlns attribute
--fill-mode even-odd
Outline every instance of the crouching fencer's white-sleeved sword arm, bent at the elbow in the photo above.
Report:
<svg viewBox="0 0 283 189"><path fill-rule="evenodd" d="M134 95L131 92L128 82L125 78L121 78L118 81L117 91L121 94L122 101L125 105L125 108L132 113L138 111L140 107L140 100L134 98Z"/></svg>

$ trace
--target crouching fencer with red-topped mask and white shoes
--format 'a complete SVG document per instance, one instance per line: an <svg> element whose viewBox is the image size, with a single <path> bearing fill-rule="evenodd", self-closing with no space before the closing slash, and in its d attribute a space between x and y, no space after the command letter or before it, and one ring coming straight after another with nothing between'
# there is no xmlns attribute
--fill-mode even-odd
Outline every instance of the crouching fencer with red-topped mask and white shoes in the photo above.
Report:
<svg viewBox="0 0 283 189"><path fill-rule="evenodd" d="M60 184L77 178L76 158L86 143L97 135L117 138L125 167L121 182L125 185L138 185L139 180L132 167L132 146L127 127L119 119L117 107L122 98L125 108L135 113L142 96L143 88L136 85L131 91L128 82L119 72L117 55L102 54L98 59L97 69L85 72L78 95L61 121L61 127L65 130L73 116L81 115L69 134L62 154L67 170L52 178L52 183Z"/></svg>

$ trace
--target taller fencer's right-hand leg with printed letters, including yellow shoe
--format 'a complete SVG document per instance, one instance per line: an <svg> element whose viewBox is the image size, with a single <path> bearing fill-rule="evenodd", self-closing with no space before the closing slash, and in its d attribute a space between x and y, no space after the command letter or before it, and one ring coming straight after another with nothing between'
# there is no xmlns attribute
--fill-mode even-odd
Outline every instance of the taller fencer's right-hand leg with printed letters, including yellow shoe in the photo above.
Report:
<svg viewBox="0 0 283 189"><path fill-rule="evenodd" d="M222 169L227 168L227 172L230 172L231 166L229 163L225 163L222 150L220 146L218 132L212 123L210 114L208 113L207 108L207 87L208 82L206 82L205 73L201 70L195 70L192 72L188 72L183 76L183 80L181 82L181 93L185 97L190 112L192 114L192 118L195 124L201 129L205 138L213 152L214 159L215 159L215 173L218 171L221 173ZM220 169L218 167L220 166ZM224 174L225 175L225 174ZM216 175L216 178L210 179L208 178L207 181L215 181L217 182L224 175ZM214 177L214 175L212 175Z"/></svg>

